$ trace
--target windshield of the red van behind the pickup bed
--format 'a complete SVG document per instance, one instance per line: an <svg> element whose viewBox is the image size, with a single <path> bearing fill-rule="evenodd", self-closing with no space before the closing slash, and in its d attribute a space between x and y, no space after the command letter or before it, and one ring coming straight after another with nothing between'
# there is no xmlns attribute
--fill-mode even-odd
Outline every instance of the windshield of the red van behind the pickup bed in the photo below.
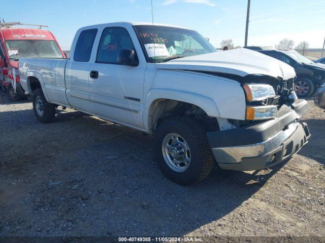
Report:
<svg viewBox="0 0 325 243"><path fill-rule="evenodd" d="M40 41L33 39L19 39L6 41L6 48L10 60L17 61L19 58L62 58L60 48L55 41Z"/></svg>

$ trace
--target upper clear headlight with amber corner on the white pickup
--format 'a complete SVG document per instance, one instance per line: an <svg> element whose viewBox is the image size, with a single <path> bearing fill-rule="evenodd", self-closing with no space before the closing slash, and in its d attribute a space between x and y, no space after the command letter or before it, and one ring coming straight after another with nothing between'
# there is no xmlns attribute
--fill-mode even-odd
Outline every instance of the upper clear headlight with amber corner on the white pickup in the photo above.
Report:
<svg viewBox="0 0 325 243"><path fill-rule="evenodd" d="M247 101L259 101L275 97L275 91L271 85L246 84L244 90Z"/></svg>

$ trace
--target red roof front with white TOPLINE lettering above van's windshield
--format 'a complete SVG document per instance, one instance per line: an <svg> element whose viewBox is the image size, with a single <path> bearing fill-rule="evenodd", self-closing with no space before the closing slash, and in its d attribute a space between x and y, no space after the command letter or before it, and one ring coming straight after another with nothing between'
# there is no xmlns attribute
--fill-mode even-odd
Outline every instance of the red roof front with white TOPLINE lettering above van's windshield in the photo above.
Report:
<svg viewBox="0 0 325 243"><path fill-rule="evenodd" d="M40 39L46 41L55 41L52 33L45 29L29 28L1 28L0 32L5 41L18 39Z"/></svg>

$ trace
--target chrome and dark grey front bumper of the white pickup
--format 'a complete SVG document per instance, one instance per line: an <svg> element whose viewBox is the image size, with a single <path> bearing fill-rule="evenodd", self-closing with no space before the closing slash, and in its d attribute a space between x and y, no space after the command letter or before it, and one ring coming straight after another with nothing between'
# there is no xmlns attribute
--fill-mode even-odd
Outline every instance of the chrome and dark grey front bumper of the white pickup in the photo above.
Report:
<svg viewBox="0 0 325 243"><path fill-rule="evenodd" d="M253 171L276 165L297 153L308 142L310 132L307 124L296 121L308 109L307 102L300 100L295 105L296 110L295 106L286 106L281 117L262 124L208 133L219 166Z"/></svg>

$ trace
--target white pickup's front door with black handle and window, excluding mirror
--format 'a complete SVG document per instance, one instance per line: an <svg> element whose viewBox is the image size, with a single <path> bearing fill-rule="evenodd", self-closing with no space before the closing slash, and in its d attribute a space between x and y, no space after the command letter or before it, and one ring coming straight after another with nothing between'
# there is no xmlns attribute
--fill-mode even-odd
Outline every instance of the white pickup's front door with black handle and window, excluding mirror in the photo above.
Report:
<svg viewBox="0 0 325 243"><path fill-rule="evenodd" d="M131 34L133 37L124 27L103 28L96 56L90 66L89 100L94 114L117 123L143 128L146 61L142 58L136 35L133 32ZM123 49L135 51L139 60L137 66L118 63L117 57Z"/></svg>

